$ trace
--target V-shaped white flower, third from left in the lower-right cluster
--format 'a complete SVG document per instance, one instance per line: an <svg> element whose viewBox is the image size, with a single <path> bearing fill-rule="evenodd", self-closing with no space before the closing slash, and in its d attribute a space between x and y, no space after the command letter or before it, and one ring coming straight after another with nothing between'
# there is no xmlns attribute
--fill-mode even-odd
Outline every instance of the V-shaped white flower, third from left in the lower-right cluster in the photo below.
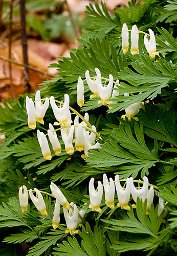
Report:
<svg viewBox="0 0 177 256"><path fill-rule="evenodd" d="M129 202L130 193L131 193L131 181L132 181L132 178L126 179L126 188L124 189L124 187L122 187L120 184L119 175L117 174L115 177L116 191L117 191L117 196L119 200L119 203L117 205L121 206L121 209L123 210L130 210L128 202Z"/></svg>

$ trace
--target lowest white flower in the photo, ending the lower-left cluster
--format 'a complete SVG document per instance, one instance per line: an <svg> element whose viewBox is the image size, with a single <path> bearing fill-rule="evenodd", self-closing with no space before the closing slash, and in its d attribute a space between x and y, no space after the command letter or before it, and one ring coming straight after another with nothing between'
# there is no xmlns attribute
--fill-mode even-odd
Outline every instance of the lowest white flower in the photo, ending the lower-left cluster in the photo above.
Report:
<svg viewBox="0 0 177 256"><path fill-rule="evenodd" d="M63 214L65 221L67 223L67 229L65 230L65 233L70 232L71 236L74 236L75 233L78 233L78 230L76 230L78 226L78 208L73 202L70 204L74 210L70 207L69 212L67 209L63 208Z"/></svg>

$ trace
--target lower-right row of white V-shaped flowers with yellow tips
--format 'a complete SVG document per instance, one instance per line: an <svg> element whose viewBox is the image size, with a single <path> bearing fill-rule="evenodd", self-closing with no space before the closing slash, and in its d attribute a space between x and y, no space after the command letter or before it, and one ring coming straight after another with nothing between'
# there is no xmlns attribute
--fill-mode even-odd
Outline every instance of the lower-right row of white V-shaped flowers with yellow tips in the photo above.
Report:
<svg viewBox="0 0 177 256"><path fill-rule="evenodd" d="M145 176L143 178L142 188L140 188L140 186L138 188L135 187L134 182L135 181L133 180L132 177L127 178L126 188L124 188L124 186L122 187L120 184L119 175L115 176L115 181L113 181L113 179L110 178L108 182L107 176L106 174L104 174L103 185L101 184L101 181L98 181L98 188L95 190L94 178L92 178L89 183L89 195L90 195L90 202L91 202L89 207L92 208L93 211L101 212L100 204L103 196L103 187L104 187L105 203L109 208L114 210L115 208L114 198L115 198L115 187L116 187L116 192L119 200L117 205L121 207L121 209L130 210L130 206L128 205L128 202L130 200L130 195L131 195L132 199L136 203L137 203L138 197L142 199L143 204L144 204L144 201L147 199L147 214L148 214L148 209L150 208L150 205L153 202L153 196L154 196L153 186L150 186L150 189L148 189L149 182L148 182L148 178ZM139 182L139 185L140 185L140 182ZM133 204L132 208L136 208L136 204Z"/></svg>

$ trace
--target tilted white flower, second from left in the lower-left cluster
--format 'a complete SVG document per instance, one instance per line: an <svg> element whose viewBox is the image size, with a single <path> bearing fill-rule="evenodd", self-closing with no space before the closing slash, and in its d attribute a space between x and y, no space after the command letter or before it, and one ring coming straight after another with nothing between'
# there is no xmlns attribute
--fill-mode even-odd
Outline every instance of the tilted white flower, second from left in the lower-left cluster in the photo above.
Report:
<svg viewBox="0 0 177 256"><path fill-rule="evenodd" d="M30 189L29 194L30 194L31 201L43 216L48 216L48 213L46 211L46 204L45 204L45 201L43 200L43 197L40 191L37 188L34 188L34 190L36 191L37 197L33 195L32 189Z"/></svg>

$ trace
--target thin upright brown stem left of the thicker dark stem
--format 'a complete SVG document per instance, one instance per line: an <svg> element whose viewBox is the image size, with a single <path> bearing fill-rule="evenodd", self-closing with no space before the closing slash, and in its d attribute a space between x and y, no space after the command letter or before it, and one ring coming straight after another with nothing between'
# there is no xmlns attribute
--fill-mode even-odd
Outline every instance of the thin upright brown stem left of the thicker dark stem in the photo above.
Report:
<svg viewBox="0 0 177 256"><path fill-rule="evenodd" d="M10 0L10 22L9 22L9 58L11 59L11 43L12 43L12 0ZM9 62L9 76L10 76L10 89L12 92L12 98L15 99L15 92L13 90L12 83L12 65Z"/></svg>

